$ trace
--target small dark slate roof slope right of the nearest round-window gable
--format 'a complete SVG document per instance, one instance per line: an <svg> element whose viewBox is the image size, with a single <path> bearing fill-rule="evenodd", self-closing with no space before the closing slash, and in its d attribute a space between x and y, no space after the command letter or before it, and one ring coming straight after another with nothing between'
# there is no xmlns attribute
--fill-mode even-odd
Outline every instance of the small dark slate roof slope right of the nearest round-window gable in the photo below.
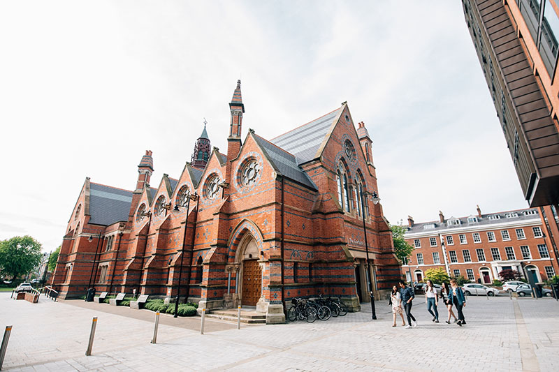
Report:
<svg viewBox="0 0 559 372"><path fill-rule="evenodd" d="M284 149L280 149L275 144L263 139L259 135L254 134L254 140L266 152L266 157L272 163L273 167L281 173L284 177L293 179L300 184L318 190L314 182L307 176L305 172L299 167L297 158L293 154Z"/></svg>

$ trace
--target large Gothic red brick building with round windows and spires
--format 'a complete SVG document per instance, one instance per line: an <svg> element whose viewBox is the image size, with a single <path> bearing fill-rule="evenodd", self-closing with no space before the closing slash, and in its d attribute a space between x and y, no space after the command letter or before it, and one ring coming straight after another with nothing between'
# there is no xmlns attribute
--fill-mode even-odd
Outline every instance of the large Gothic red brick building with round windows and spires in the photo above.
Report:
<svg viewBox="0 0 559 372"><path fill-rule="evenodd" d="M365 240L377 295L400 278L382 206L361 195L378 191L372 140L347 103L270 141L242 140L240 81L229 107L226 155L204 128L191 163L156 188L151 151L133 191L85 180L54 274L61 296L175 296L180 281L182 298L256 306L267 322L284 321L284 300L319 293L358 310L370 300Z"/></svg>

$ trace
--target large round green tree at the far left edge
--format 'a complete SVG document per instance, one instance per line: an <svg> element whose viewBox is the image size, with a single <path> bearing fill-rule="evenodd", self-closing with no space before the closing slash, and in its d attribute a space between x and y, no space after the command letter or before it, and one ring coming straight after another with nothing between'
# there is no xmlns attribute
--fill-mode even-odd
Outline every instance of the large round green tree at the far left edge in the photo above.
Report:
<svg viewBox="0 0 559 372"><path fill-rule="evenodd" d="M2 274L11 276L14 281L18 276L29 273L41 262L41 248L41 243L29 235L0 241Z"/></svg>

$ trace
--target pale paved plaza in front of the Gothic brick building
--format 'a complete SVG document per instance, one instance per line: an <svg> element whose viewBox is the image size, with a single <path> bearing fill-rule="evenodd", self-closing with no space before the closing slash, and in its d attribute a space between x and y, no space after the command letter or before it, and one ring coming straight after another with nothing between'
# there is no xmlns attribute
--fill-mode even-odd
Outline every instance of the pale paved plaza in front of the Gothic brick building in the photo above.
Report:
<svg viewBox="0 0 559 372"><path fill-rule="evenodd" d="M559 302L469 297L467 325L430 321L414 302L419 327L391 327L386 302L312 324L242 325L85 303L38 304L0 293L0 326L13 325L4 370L10 371L559 371ZM92 356L86 357L92 318Z"/></svg>

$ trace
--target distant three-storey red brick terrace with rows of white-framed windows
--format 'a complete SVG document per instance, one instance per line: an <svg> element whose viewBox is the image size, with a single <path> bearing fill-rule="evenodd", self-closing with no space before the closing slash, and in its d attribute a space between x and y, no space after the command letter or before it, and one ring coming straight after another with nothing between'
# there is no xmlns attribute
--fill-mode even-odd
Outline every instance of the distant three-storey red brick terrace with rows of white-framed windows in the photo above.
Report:
<svg viewBox="0 0 559 372"><path fill-rule="evenodd" d="M559 218L546 207L543 221L539 208L445 218L414 223L408 218L406 241L414 247L402 275L408 281L421 281L426 269L442 267L449 276L464 276L490 284L499 271L514 269L525 278L541 283L559 272L556 241Z"/></svg>

